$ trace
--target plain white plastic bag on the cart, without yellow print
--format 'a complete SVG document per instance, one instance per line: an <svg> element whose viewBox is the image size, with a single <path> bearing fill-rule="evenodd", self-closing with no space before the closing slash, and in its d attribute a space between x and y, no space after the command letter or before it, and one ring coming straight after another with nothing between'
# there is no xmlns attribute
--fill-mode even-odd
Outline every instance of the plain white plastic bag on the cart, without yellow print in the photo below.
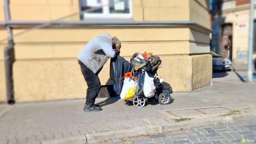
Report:
<svg viewBox="0 0 256 144"><path fill-rule="evenodd" d="M147 72L145 73L143 92L145 97L153 97L155 95L154 78L149 77Z"/></svg>

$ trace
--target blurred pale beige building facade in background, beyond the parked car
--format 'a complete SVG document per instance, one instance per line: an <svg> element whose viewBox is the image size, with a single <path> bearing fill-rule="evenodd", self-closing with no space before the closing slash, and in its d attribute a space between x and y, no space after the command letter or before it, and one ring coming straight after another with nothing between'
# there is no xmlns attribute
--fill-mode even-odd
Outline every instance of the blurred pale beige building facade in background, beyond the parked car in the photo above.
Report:
<svg viewBox="0 0 256 144"><path fill-rule="evenodd" d="M229 8L230 5L226 5ZM218 26L218 36L215 37L214 45L221 48L221 30L222 24L232 23L233 24L233 52L232 62L234 64L247 64L247 56L242 55L248 51L249 42L249 5L242 5L238 8L223 10L221 16L215 16L213 24ZM254 19L256 19L256 10L254 10ZM216 39L217 38L217 39ZM219 41L219 43L218 43ZM256 54L253 54L255 59Z"/></svg>

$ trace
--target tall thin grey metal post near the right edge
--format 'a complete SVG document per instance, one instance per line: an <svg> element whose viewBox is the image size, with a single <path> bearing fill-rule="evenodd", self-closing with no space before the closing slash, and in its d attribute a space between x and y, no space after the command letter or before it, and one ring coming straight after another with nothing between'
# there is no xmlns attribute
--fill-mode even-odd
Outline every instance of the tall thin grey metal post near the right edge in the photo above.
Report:
<svg viewBox="0 0 256 144"><path fill-rule="evenodd" d="M253 20L254 20L254 0L251 0L249 19L249 47L248 47L248 69L247 83L252 83L252 53L253 53Z"/></svg>

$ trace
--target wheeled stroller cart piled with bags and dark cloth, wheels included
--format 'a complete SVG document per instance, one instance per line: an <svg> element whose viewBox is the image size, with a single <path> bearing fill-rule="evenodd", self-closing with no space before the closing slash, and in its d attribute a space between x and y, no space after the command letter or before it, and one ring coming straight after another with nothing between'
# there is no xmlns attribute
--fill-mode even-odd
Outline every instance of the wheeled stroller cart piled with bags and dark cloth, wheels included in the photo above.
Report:
<svg viewBox="0 0 256 144"><path fill-rule="evenodd" d="M119 55L111 59L110 78L114 80L117 96L133 101L137 108L142 108L149 99L170 104L171 88L164 86L163 79L155 76L160 67L160 58L146 52L133 54L130 62Z"/></svg>

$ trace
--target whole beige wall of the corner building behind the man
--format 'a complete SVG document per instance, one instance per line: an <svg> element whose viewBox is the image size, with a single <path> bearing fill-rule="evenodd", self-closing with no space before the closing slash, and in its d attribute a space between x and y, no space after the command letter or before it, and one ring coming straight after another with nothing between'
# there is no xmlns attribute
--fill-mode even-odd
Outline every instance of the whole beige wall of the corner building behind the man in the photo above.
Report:
<svg viewBox="0 0 256 144"><path fill-rule="evenodd" d="M23 8L30 9L30 5L26 3L46 10L46 14L40 19L42 21L63 16L55 14L56 11L51 9L54 5L56 7L68 5L70 14L76 11L72 9L78 5L74 1L13 0L11 1L11 14L14 20L22 18L39 20L40 16L33 15L29 19L28 12L24 12L27 14L24 17L19 14ZM202 3L205 5L205 1ZM209 21L209 17L205 17L208 14L205 9L201 9L205 15L195 13L201 18L190 15L190 12L195 12L192 7L202 7L197 4L189 0L182 2L133 1L133 19L135 21L193 21L199 25L181 24L177 27L175 24L170 24L170 26L155 25L147 28L143 26L50 28L34 29L15 36L14 89L16 101L85 98L87 86L77 64L77 55L89 40L101 33L109 33L121 40L121 56L127 60L135 52L146 51L158 55L163 61L163 67L158 70L158 74L176 92L192 91L210 85L211 56L208 54L210 30L207 29L209 23L205 23ZM76 18L72 18L71 21L76 22ZM104 65L99 78L102 85L113 84L109 80L109 61ZM0 101L4 101L5 94L0 93Z"/></svg>

